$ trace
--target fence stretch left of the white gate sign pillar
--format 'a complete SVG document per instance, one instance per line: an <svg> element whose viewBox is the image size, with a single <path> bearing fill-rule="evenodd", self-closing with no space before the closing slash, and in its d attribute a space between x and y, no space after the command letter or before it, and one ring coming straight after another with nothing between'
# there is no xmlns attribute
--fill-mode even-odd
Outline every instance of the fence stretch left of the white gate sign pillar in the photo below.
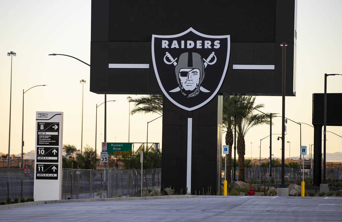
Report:
<svg viewBox="0 0 342 222"><path fill-rule="evenodd" d="M25 176L24 171L0 172L0 201L10 197L33 197L34 171Z"/></svg>

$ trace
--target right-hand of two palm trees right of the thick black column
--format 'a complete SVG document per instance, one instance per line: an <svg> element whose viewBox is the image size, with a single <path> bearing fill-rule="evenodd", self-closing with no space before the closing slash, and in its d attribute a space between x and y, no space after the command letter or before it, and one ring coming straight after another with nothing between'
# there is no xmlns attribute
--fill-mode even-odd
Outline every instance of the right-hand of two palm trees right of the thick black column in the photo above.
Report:
<svg viewBox="0 0 342 222"><path fill-rule="evenodd" d="M254 109L260 109L264 107L264 104L257 104L254 106L255 97L244 96L241 99L245 103L239 103L244 112L239 112L236 114L236 126L237 126L237 153L238 166L239 166L239 181L245 182L245 136L247 132L253 126L258 125L269 125L270 113L254 114Z"/></svg>

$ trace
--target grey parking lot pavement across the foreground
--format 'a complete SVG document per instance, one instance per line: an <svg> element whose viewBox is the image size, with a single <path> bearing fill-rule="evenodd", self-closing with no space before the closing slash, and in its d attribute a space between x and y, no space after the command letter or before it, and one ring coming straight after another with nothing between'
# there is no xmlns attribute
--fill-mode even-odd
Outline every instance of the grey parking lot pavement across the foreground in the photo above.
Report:
<svg viewBox="0 0 342 222"><path fill-rule="evenodd" d="M197 196L0 210L2 221L341 221L341 197Z"/></svg>

